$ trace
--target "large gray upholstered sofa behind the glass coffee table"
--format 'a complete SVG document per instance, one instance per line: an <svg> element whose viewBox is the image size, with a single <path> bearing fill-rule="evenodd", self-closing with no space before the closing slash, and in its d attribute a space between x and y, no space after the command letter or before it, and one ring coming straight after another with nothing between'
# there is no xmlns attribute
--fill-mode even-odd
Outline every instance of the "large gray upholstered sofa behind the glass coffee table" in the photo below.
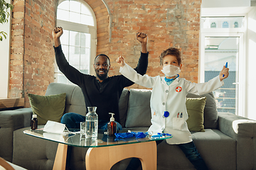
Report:
<svg viewBox="0 0 256 170"><path fill-rule="evenodd" d="M85 102L78 86L52 83L47 95L66 93L65 113L85 115ZM120 121L124 130L146 131L151 113L151 91L124 89L119 101ZM206 132L192 132L193 141L209 169L256 169L256 122L231 113L218 113L213 93L206 94L204 126ZM188 94L187 97L199 97ZM0 157L26 169L52 169L58 144L23 134L30 127L32 110L21 108L0 111ZM149 148L150 149L150 148ZM73 147L72 169L85 169L87 149ZM125 169L129 159L112 169ZM157 147L157 169L193 169L191 162L176 145L165 141Z"/></svg>

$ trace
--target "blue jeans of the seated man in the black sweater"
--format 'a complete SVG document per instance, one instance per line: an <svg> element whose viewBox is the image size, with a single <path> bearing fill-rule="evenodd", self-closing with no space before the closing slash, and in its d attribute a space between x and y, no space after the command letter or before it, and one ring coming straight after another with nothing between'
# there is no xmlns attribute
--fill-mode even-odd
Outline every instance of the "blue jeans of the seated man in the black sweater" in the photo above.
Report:
<svg viewBox="0 0 256 170"><path fill-rule="evenodd" d="M63 117L60 119L60 123L65 124L67 128L77 128L80 129L80 122L85 122L85 116L80 115L78 113L65 113ZM100 130L107 130L107 121L105 120L98 120L99 125L98 128ZM117 130L122 130L122 125L117 123Z"/></svg>

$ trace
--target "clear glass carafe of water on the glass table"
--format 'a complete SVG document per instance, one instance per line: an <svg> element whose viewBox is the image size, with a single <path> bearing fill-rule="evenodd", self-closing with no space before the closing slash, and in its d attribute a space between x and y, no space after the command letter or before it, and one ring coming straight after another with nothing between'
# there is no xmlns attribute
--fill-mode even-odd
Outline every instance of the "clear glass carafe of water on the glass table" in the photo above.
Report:
<svg viewBox="0 0 256 170"><path fill-rule="evenodd" d="M88 113L85 115L85 137L97 138L98 116L95 112L97 107L87 107Z"/></svg>

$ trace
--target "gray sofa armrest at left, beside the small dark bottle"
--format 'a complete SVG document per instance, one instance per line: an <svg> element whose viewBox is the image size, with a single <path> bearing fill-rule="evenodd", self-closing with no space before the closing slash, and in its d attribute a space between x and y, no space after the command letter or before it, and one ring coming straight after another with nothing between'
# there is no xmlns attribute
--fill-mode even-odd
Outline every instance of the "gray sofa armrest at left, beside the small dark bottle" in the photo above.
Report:
<svg viewBox="0 0 256 170"><path fill-rule="evenodd" d="M29 127L32 113L31 108L0 111L0 157L12 161L14 130Z"/></svg>

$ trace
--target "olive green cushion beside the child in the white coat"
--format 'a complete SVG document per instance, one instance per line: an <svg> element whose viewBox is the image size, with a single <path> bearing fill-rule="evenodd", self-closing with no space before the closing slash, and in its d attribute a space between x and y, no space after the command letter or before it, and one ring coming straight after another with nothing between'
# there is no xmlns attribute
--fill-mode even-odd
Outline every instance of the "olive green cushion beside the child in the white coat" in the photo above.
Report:
<svg viewBox="0 0 256 170"><path fill-rule="evenodd" d="M186 109L188 112L188 130L194 132L204 132L203 110L206 105L206 97L186 98Z"/></svg>

